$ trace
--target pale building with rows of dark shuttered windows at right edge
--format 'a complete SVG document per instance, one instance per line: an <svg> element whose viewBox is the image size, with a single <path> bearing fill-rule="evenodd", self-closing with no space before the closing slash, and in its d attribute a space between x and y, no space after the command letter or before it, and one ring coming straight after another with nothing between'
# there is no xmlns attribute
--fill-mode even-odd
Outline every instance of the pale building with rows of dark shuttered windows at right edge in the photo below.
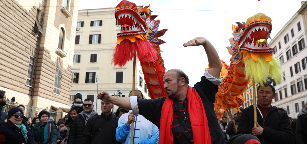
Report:
<svg viewBox="0 0 307 144"><path fill-rule="evenodd" d="M273 56L281 60L284 70L282 82L276 84L273 81L276 92L272 104L284 108L292 118L297 118L307 101L306 10L307 2L302 3L270 44L274 50ZM247 90L252 92L252 87L249 86ZM247 104L243 105L245 108L252 103L252 97L247 94L244 97L247 99Z"/></svg>

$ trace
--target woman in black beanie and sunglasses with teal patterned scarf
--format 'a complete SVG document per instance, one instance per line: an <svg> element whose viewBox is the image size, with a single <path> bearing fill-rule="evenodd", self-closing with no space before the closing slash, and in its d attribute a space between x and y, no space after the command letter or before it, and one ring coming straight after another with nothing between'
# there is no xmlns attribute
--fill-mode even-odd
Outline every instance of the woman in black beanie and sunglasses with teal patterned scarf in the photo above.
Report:
<svg viewBox="0 0 307 144"><path fill-rule="evenodd" d="M8 121L0 126L0 144L34 144L33 132L26 123L19 107L13 107L7 113Z"/></svg>

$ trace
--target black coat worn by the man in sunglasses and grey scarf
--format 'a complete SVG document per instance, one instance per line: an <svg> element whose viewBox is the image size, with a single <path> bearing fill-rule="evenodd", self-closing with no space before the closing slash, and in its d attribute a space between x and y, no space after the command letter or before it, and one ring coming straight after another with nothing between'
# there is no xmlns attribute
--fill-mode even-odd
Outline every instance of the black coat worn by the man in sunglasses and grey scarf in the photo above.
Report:
<svg viewBox="0 0 307 144"><path fill-rule="evenodd" d="M97 115L98 114L96 114L95 116ZM69 144L81 144L84 126L85 126L84 117L81 114L77 115L74 121L72 122L72 129L69 131L70 135Z"/></svg>

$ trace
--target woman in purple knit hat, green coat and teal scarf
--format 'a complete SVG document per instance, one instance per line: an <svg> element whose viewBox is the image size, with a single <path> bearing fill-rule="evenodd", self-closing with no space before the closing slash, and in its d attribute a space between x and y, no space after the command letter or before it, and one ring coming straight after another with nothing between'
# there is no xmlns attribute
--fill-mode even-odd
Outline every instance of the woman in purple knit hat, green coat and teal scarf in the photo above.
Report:
<svg viewBox="0 0 307 144"><path fill-rule="evenodd" d="M40 122L32 128L35 144L56 144L56 127L49 117L50 113L45 110L38 114Z"/></svg>

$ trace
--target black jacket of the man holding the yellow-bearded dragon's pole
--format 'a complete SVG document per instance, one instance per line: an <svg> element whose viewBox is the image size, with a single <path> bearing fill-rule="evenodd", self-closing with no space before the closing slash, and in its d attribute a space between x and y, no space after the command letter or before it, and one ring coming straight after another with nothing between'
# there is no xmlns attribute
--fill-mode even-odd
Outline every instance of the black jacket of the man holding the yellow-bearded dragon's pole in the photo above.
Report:
<svg viewBox="0 0 307 144"><path fill-rule="evenodd" d="M290 126L287 113L278 110L276 106L270 108L266 113L265 120L262 118L257 108L257 122L263 128L262 135L258 136L261 144L292 144L294 142L294 134ZM240 123L238 126L238 134L251 134L254 128L254 107L247 107L242 111Z"/></svg>

